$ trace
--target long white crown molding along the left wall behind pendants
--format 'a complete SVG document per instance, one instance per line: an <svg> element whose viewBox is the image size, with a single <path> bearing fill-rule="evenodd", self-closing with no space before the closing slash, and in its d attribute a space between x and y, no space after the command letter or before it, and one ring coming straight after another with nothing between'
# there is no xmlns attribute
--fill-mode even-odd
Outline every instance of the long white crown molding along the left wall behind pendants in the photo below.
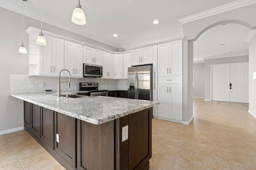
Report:
<svg viewBox="0 0 256 170"><path fill-rule="evenodd" d="M0 1L0 7L5 8L5 9L10 10L10 11L13 11L13 12L16 12L16 13L18 13L18 14L22 14L22 9L18 8L17 6L10 5L10 4L6 3L6 2ZM27 17L29 17L29 18L33 18L33 19L35 19L35 20L41 21L41 16L35 15L35 14L31 13L31 12L26 12L26 11L24 11L24 16L27 16ZM81 36L84 36L84 37L86 37L86 38L90 38L90 39L92 39L92 40L94 40L94 41L98 41L98 42L100 42L100 43L104 43L104 44L106 44L106 45L110 45L110 46L112 46L112 47L118 48L118 45L116 45L116 44L110 43L110 42L108 42L108 41L104 41L104 40L102 40L102 39L100 39L100 38L96 38L96 37L91 36L91 35L88 35L88 34L84 34L83 31L78 31L78 30L76 30L76 29L72 29L72 28L67 27L67 26L65 26L65 25L62 25L62 24L57 24L56 22L53 22L53 21L51 21L51 20L47 20L47 19L44 19L44 18L43 18L43 22L44 22L44 23L48 23L48 24L50 24L50 25L53 25L53 26L55 26L55 27L59 27L59 28L61 28L61 29L65 29L66 31L70 31L70 32L72 32L72 33L76 33L76 34L81 35Z"/></svg>

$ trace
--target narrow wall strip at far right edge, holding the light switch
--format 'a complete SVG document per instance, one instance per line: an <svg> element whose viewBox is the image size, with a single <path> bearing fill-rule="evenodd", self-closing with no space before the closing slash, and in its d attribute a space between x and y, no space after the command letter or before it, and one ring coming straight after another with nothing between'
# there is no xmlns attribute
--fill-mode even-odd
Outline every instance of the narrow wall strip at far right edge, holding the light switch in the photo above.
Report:
<svg viewBox="0 0 256 170"><path fill-rule="evenodd" d="M253 72L256 72L256 36L249 43L249 111L256 115L256 80L252 79Z"/></svg>

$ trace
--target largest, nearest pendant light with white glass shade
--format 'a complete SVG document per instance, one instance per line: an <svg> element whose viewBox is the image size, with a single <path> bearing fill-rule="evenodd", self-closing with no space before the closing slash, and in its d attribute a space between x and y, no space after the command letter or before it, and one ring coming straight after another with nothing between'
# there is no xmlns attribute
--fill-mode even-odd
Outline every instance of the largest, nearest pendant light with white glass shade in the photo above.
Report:
<svg viewBox="0 0 256 170"><path fill-rule="evenodd" d="M84 25L86 23L84 11L82 10L82 6L80 5L80 0L78 0L78 4L73 11L71 21L77 25Z"/></svg>

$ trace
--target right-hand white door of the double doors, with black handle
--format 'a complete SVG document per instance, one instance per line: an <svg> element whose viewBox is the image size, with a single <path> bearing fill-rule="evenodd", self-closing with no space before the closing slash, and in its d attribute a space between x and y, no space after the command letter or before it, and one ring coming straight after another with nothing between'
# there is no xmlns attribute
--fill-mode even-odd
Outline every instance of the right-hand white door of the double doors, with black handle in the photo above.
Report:
<svg viewBox="0 0 256 170"><path fill-rule="evenodd" d="M230 64L230 102L249 103L248 63Z"/></svg>

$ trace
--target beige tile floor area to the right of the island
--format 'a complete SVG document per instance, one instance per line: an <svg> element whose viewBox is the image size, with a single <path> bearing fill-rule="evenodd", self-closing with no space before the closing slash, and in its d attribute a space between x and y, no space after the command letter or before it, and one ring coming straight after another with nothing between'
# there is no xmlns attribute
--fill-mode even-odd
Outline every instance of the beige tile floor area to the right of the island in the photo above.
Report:
<svg viewBox="0 0 256 170"><path fill-rule="evenodd" d="M150 170L256 170L256 118L248 105L194 98L194 120L152 119Z"/></svg>

